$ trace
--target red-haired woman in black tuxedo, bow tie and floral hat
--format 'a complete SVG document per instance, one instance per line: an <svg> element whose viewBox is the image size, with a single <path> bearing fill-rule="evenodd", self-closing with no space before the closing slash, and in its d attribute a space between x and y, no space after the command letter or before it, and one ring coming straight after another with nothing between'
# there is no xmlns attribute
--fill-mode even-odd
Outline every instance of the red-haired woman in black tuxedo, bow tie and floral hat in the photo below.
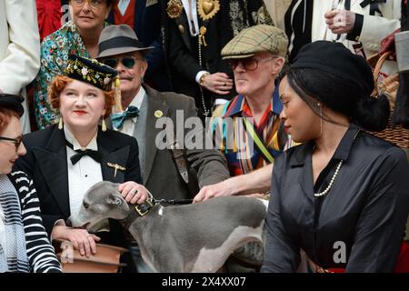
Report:
<svg viewBox="0 0 409 291"><path fill-rule="evenodd" d="M47 233L71 242L88 257L96 254L97 242L127 247L129 241L122 226L111 219L92 229L65 224L84 205L86 191L104 180L118 183L118 192L131 204L142 204L149 196L139 184L135 138L105 127L115 103L116 75L94 59L70 55L64 75L57 75L48 88L58 125L25 135L27 155L15 164L33 177ZM126 271L133 271L128 255L123 262L129 267Z"/></svg>

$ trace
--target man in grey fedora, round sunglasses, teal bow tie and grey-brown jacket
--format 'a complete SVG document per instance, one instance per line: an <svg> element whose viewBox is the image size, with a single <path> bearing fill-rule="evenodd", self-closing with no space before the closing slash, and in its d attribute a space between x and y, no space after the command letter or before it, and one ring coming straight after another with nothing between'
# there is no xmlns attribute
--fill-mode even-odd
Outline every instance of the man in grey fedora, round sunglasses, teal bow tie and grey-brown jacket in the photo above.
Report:
<svg viewBox="0 0 409 291"><path fill-rule="evenodd" d="M111 126L135 136L143 184L153 196L156 199L193 198L199 187L228 178L224 156L216 150L180 146L170 149L170 145L159 149L156 146L157 136L163 132L163 128L155 127L159 118L171 120L175 134L177 126L185 127L187 118L198 117L193 98L172 92L161 93L144 84L147 69L145 55L151 47L145 47L129 25L105 27L98 43L98 59L118 71L122 107L125 110L123 114L112 115ZM184 116L183 124L180 124L180 120L177 124L176 114ZM201 127L190 131L184 129L184 134L204 136L205 132ZM166 143L170 143L170 140L169 136L160 139ZM184 140L176 142L180 145Z"/></svg>

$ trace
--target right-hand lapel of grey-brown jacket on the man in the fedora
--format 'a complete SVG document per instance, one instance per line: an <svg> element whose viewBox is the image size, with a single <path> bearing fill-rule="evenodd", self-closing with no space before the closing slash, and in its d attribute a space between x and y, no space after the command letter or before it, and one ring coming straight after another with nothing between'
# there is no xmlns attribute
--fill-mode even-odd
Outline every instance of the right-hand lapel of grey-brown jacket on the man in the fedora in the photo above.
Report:
<svg viewBox="0 0 409 291"><path fill-rule="evenodd" d="M145 184L155 161L155 155L157 151L155 145L156 136L163 130L162 128L155 128L157 119L157 117L155 117L155 112L161 111L163 113L163 117L166 117L168 116L169 107L166 105L163 95L146 85L144 85L144 88L148 97L145 137Z"/></svg>

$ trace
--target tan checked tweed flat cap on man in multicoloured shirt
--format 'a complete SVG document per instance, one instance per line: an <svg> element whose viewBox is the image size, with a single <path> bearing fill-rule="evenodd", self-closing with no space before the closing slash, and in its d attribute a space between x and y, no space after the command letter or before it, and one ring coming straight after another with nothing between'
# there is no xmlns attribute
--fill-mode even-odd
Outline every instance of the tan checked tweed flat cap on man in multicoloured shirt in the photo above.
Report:
<svg viewBox="0 0 409 291"><path fill-rule="evenodd" d="M284 31L272 25L254 25L243 29L224 45L223 59L244 58L260 52L272 52L285 57L288 38Z"/></svg>

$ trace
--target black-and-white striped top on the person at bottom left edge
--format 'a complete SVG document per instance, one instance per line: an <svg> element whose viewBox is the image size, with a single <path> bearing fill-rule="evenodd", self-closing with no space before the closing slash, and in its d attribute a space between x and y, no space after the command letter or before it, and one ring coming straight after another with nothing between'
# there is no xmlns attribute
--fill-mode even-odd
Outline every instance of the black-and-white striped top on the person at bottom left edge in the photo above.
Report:
<svg viewBox="0 0 409 291"><path fill-rule="evenodd" d="M16 217L24 227L25 249L28 258L28 268L19 266L18 262L7 261L9 272L56 273L61 272L61 266L55 256L55 250L48 240L43 221L40 216L40 204L33 186L33 181L24 172L13 172L8 178L18 193L19 206L3 209L7 217ZM13 196L5 197L2 205L10 205L15 200ZM19 221L15 223L20 223ZM12 234L9 234L12 235ZM7 234L6 234L7 236ZM18 240L18 239L17 239Z"/></svg>

